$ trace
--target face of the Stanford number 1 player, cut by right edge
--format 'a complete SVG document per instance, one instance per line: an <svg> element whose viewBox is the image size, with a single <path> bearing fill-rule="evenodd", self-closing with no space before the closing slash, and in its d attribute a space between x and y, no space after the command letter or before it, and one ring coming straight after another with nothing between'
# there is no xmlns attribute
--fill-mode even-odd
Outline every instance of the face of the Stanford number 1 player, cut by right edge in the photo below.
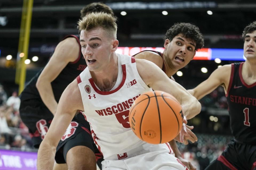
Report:
<svg viewBox="0 0 256 170"><path fill-rule="evenodd" d="M247 33L243 44L243 54L246 59L256 59L256 30Z"/></svg>

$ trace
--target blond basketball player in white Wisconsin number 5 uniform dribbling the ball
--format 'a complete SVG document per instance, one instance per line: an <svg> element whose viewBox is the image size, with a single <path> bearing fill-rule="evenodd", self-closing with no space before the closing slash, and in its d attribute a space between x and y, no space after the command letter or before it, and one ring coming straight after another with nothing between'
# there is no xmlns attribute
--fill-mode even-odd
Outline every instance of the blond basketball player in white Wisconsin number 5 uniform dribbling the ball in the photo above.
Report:
<svg viewBox="0 0 256 170"><path fill-rule="evenodd" d="M104 156L102 169L188 169L174 157L168 143L152 145L133 133L129 108L140 94L151 88L176 97L185 115L198 114L201 105L154 63L116 54L115 21L115 17L105 13L92 13L79 21L87 68L61 96L52 126L38 150L38 170L53 167L58 141L78 110L83 110L90 122L94 142ZM181 139L175 139L183 142L184 134L183 124Z"/></svg>

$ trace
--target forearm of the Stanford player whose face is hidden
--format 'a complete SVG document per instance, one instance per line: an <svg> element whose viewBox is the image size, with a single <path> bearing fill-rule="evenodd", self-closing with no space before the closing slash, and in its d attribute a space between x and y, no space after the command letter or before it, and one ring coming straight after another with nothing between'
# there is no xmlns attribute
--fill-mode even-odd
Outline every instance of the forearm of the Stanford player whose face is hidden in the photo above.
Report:
<svg viewBox="0 0 256 170"><path fill-rule="evenodd" d="M53 89L51 87L51 83L38 80L36 84L37 90L40 94L40 97L46 107L53 113L56 113L58 103L54 98Z"/></svg>

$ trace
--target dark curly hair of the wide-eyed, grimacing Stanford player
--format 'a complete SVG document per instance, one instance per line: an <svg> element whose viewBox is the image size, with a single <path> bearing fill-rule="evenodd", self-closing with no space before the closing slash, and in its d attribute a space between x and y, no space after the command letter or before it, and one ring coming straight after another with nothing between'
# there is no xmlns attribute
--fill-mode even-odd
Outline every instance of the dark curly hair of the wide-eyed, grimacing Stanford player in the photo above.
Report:
<svg viewBox="0 0 256 170"><path fill-rule="evenodd" d="M195 51L203 48L203 35L200 32L199 28L194 24L183 22L175 23L170 29L167 30L165 34L165 40L169 39L170 41L172 41L173 38L178 34L182 34L184 37L191 39L192 41L195 41Z"/></svg>

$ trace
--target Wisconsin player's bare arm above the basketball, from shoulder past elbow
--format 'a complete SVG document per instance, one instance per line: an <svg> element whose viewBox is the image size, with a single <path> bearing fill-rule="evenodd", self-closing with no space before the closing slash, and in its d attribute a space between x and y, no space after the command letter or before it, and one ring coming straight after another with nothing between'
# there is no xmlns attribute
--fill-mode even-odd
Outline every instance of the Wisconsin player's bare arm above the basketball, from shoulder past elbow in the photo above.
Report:
<svg viewBox="0 0 256 170"><path fill-rule="evenodd" d="M198 100L190 95L180 84L167 77L154 63L147 60L136 59L136 65L143 81L154 90L165 91L173 95L181 103L184 115L188 119L200 113L201 104Z"/></svg>

